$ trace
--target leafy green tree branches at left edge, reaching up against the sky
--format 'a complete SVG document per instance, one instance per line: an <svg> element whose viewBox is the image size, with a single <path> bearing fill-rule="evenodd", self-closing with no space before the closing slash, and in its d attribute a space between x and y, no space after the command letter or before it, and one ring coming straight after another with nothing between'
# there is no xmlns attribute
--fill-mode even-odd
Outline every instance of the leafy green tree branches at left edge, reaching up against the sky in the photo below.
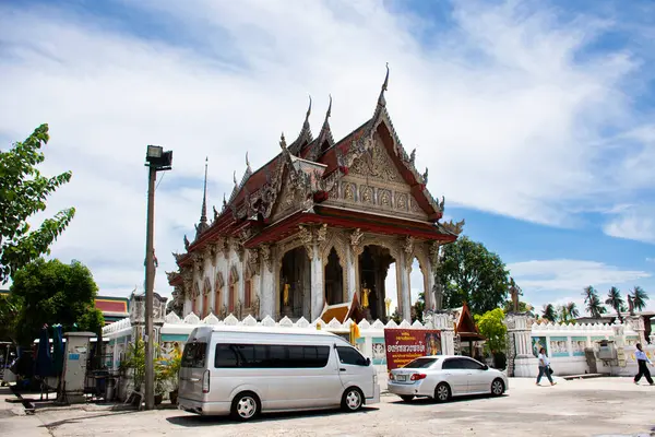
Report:
<svg viewBox="0 0 655 437"><path fill-rule="evenodd" d="M73 208L59 211L36 229L27 223L45 211L48 196L71 179L70 172L46 177L37 169L45 160L40 149L48 140L48 125L41 125L25 141L0 151L0 283L49 253L50 245L75 214Z"/></svg>

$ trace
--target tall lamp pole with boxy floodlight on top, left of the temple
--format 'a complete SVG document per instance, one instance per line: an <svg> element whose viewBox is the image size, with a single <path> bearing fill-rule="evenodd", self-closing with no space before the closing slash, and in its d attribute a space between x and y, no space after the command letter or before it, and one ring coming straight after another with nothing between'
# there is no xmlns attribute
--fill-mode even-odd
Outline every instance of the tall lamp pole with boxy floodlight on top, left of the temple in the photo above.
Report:
<svg viewBox="0 0 655 437"><path fill-rule="evenodd" d="M172 152L158 145L148 145L145 154L147 177L147 225L145 231L145 409L155 408L155 332L153 310L155 293L155 181L157 172L171 169Z"/></svg>

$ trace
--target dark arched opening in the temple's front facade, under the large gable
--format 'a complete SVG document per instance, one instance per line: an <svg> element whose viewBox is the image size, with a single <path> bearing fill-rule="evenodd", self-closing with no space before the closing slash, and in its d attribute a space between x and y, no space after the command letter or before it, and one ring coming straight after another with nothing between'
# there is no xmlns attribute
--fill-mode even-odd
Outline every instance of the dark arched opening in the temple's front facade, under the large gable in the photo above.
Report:
<svg viewBox="0 0 655 437"><path fill-rule="evenodd" d="M359 300L365 307L367 317L370 311L372 320L386 320L384 281L389 267L394 262L389 249L381 246L366 246L359 256Z"/></svg>

